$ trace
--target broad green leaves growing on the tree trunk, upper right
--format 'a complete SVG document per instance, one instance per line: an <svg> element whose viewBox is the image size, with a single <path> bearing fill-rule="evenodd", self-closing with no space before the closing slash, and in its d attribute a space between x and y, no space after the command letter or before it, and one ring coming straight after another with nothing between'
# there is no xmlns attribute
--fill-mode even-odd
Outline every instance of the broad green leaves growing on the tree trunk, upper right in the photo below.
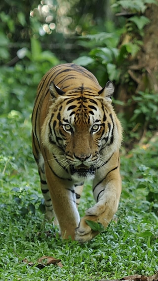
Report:
<svg viewBox="0 0 158 281"><path fill-rule="evenodd" d="M144 13L148 3L156 3L156 1L123 0L117 1L111 7L116 9L121 6L130 15L130 12ZM125 82L127 79L125 71L126 61L129 57L134 58L140 50L142 45L140 38L143 36L143 28L149 23L150 20L144 15L129 16L126 21L122 22L121 27L117 27L117 29L112 22L106 22L105 30L107 32L97 32L96 34L87 34L79 37L80 40L84 40L84 44L81 41L78 44L84 47L87 46L87 49L90 46L87 40L91 42L91 51L88 53L88 56L86 55L86 58L85 55L79 56L74 62L87 66L94 73L98 73L98 69L100 68L102 70L104 69L106 75L102 75L101 78L98 75L101 85L104 85L107 79L115 81L116 84ZM124 28L123 25L125 26ZM119 40L121 35L125 35L125 39L120 45Z"/></svg>

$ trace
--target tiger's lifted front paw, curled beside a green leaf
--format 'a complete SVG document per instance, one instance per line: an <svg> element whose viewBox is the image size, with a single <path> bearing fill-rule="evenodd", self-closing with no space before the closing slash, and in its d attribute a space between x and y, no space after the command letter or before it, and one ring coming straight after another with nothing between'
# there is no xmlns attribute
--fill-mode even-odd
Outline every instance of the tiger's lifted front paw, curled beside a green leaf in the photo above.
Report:
<svg viewBox="0 0 158 281"><path fill-rule="evenodd" d="M85 220L97 221L97 218L93 216L85 216L81 219L79 226L75 229L75 240L80 243L85 243L90 241L95 237L99 231L92 230L91 227L86 223Z"/></svg>

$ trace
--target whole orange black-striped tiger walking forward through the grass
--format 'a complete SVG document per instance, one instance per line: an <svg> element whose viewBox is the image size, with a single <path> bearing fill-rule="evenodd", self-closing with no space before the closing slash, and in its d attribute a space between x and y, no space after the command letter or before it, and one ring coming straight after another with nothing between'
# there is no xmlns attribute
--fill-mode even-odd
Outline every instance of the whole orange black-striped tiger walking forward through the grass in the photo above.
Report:
<svg viewBox="0 0 158 281"><path fill-rule="evenodd" d="M45 216L61 238L85 243L105 229L120 201L122 126L111 103L114 84L102 88L82 66L52 67L38 85L32 112L32 148L45 202ZM80 218L84 182L95 204Z"/></svg>

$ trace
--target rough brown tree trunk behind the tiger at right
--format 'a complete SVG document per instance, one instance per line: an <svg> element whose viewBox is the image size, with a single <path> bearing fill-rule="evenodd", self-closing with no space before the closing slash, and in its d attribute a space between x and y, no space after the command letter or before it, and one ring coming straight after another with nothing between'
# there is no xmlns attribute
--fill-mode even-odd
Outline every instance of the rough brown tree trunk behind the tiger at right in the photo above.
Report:
<svg viewBox="0 0 158 281"><path fill-rule="evenodd" d="M158 92L158 6L148 5L145 16L150 19L150 24L144 28L143 45L135 58L129 57L126 72L129 74L130 83L120 85L117 89L117 99L127 103L132 95L138 91ZM124 39L123 39L124 40ZM127 65L127 63L126 63ZM116 106L117 112L123 112L127 118L133 114L135 103L132 106Z"/></svg>

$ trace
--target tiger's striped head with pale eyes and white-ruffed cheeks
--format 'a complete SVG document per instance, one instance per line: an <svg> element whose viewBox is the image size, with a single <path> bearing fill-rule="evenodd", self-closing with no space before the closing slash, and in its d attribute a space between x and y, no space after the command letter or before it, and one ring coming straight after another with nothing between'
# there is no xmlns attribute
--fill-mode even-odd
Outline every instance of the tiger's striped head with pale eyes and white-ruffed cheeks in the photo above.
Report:
<svg viewBox="0 0 158 281"><path fill-rule="evenodd" d="M113 83L93 93L83 85L65 92L53 82L49 90L52 104L42 126L43 145L50 153L61 153L61 163L75 182L92 179L122 141L111 105Z"/></svg>

